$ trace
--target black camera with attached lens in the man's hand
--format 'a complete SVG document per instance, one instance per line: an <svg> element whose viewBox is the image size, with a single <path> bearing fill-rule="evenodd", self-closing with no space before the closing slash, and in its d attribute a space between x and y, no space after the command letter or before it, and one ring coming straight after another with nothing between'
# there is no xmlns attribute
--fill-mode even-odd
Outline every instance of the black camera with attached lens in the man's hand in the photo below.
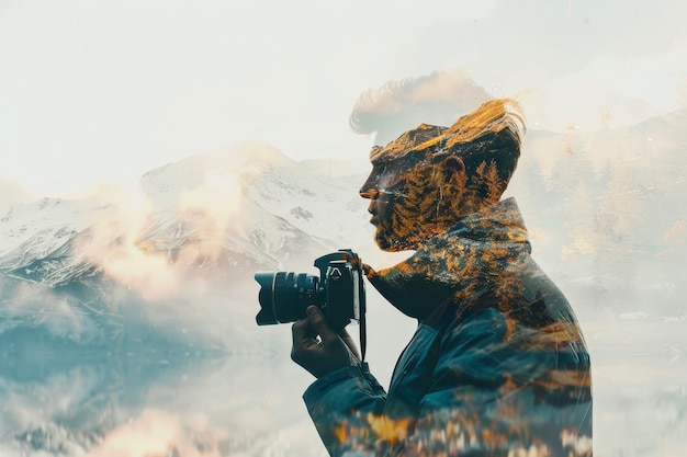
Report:
<svg viewBox="0 0 687 457"><path fill-rule="evenodd" d="M362 262L350 249L340 249L315 260L319 276L294 272L258 272L260 284L258 325L305 319L305 309L316 305L327 323L339 332L351 320L364 325L365 290Z"/></svg>

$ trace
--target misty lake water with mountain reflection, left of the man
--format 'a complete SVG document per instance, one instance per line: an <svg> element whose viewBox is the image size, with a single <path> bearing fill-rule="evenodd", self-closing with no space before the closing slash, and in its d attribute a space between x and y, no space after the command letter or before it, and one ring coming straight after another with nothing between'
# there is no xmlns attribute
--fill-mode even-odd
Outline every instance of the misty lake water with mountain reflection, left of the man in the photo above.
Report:
<svg viewBox="0 0 687 457"><path fill-rule="evenodd" d="M308 435L283 354L32 354L0 359L3 456L292 455Z"/></svg>

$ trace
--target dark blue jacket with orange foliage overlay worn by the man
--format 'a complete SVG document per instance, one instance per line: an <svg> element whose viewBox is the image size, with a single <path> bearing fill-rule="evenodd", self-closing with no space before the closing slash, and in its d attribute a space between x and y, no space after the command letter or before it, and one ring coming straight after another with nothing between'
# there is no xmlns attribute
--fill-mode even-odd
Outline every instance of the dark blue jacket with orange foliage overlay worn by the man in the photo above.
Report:
<svg viewBox="0 0 687 457"><path fill-rule="evenodd" d="M589 355L570 304L529 254L508 199L370 276L419 325L388 392L367 364L306 390L330 455L592 456Z"/></svg>

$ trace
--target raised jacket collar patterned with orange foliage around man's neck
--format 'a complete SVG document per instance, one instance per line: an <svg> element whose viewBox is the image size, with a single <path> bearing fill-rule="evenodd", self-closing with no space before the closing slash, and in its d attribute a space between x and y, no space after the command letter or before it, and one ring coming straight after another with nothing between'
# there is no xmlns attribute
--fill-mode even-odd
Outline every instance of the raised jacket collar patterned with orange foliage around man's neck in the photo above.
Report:
<svg viewBox="0 0 687 457"><path fill-rule="evenodd" d="M421 321L450 299L478 297L529 253L522 216L508 198L460 218L413 256L369 279L398 310Z"/></svg>

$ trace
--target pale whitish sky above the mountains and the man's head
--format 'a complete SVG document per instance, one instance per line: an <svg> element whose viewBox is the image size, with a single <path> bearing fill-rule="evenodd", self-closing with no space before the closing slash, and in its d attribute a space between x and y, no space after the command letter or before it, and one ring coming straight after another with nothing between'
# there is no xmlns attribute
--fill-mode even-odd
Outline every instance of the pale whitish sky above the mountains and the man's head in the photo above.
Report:
<svg viewBox="0 0 687 457"><path fill-rule="evenodd" d="M243 139L363 163L360 93L446 69L529 96L530 128L639 122L684 103L685 13L677 0L0 0L0 205L135 183Z"/></svg>

